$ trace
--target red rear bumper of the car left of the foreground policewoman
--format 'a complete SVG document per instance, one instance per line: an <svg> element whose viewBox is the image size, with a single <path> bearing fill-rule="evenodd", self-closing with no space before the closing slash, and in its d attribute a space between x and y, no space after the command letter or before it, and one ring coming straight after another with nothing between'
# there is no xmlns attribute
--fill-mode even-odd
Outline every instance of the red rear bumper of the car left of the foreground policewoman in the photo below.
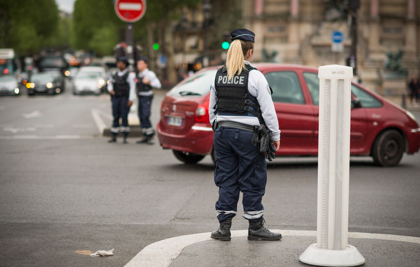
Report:
<svg viewBox="0 0 420 267"><path fill-rule="evenodd" d="M213 150L213 130L208 124L194 124L186 135L173 135L162 131L161 121L157 124L157 138L163 148L189 153L208 155Z"/></svg>

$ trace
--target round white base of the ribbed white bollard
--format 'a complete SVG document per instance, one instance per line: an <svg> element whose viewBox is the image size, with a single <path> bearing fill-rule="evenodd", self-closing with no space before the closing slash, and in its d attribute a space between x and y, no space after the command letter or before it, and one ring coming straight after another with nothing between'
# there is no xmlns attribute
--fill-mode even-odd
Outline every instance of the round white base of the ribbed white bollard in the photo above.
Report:
<svg viewBox="0 0 420 267"><path fill-rule="evenodd" d="M344 250L318 249L315 243L300 255L299 261L318 266L341 267L363 264L365 258L354 246L347 245Z"/></svg>

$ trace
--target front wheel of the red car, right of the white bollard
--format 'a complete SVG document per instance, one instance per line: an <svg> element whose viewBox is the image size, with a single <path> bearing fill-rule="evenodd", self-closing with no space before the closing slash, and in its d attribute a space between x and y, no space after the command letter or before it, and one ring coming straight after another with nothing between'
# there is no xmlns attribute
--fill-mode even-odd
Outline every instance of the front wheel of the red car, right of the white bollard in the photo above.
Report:
<svg viewBox="0 0 420 267"><path fill-rule="evenodd" d="M404 150L402 135L396 130L386 130L378 135L373 143L373 161L379 166L395 166L401 161Z"/></svg>

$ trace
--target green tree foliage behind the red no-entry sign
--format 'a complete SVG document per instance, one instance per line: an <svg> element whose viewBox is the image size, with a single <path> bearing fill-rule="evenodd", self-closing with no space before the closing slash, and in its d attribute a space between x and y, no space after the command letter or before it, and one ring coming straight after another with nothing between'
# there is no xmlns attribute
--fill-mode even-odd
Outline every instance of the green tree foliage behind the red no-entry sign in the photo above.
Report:
<svg viewBox="0 0 420 267"><path fill-rule="evenodd" d="M147 1L144 17L133 23L134 41L147 46L146 27L160 23L168 27L169 21L180 16L183 6L192 6L199 0ZM115 14L111 0L76 0L74 4L74 45L99 54L111 54L119 41L125 41L126 23ZM156 34L156 31L153 31ZM152 36L157 39L156 36Z"/></svg>

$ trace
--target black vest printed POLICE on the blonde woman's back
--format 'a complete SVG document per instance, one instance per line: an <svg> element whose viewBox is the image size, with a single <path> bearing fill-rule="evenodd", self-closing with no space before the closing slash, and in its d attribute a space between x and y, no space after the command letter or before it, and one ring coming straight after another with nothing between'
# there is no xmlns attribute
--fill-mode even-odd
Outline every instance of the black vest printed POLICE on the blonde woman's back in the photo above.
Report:
<svg viewBox="0 0 420 267"><path fill-rule="evenodd" d="M248 115L257 117L262 123L262 114L257 99L248 91L248 76L250 70L256 68L246 64L240 75L234 75L229 80L226 66L221 67L215 78L216 105L214 114Z"/></svg>

